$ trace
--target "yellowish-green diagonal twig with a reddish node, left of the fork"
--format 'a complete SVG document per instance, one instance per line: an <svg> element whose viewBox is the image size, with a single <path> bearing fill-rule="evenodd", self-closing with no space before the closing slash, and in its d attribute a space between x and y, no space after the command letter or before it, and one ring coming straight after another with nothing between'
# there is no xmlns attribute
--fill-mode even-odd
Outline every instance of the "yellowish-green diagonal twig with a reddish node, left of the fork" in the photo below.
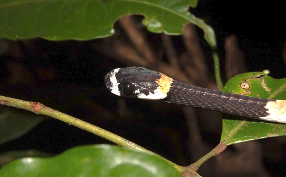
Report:
<svg viewBox="0 0 286 177"><path fill-rule="evenodd" d="M74 126L79 127L83 130L89 131L90 133L93 133L93 134L98 135L104 139L112 141L112 142L114 142L120 146L141 150L141 151L156 155L156 156L164 159L165 161L167 161L174 168L176 168L179 172L184 171L184 167L181 167L177 164L174 164L173 162L159 156L158 154L155 154L154 152L151 152L151 151L145 149L144 147L141 147L141 146L139 146L139 145L127 140L127 139L124 139L124 138L122 138L122 137L120 137L114 133L111 133L110 131L104 130L100 127L97 127L95 125L92 125L90 123L82 121L80 119L77 119L77 118L72 117L70 115L67 115L65 113L61 113L59 111L56 111L56 110L51 109L49 107L46 107L45 105L43 105L41 103L23 101L23 100L5 97L5 96L0 95L0 104L12 106L12 107L17 107L20 109L25 109L28 111L32 111L33 113L36 113L36 114L47 115L49 117L53 117L55 119L66 122L69 125L74 125Z"/></svg>

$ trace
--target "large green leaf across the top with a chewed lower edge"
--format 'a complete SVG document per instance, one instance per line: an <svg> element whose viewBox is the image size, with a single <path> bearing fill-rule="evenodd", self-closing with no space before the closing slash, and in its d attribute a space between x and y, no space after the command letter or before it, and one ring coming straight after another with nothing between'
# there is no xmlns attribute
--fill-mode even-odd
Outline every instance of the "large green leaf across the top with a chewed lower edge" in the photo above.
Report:
<svg viewBox="0 0 286 177"><path fill-rule="evenodd" d="M141 14L143 24L154 33L183 33L186 23L202 28L210 46L216 46L213 29L188 12L197 0L2 0L0 38L90 40L110 36L122 15Z"/></svg>

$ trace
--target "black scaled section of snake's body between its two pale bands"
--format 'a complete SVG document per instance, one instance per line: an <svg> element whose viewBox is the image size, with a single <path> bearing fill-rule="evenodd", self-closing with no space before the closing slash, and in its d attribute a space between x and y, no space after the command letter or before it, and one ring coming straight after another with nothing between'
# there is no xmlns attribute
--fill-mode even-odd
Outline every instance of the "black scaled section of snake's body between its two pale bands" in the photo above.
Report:
<svg viewBox="0 0 286 177"><path fill-rule="evenodd" d="M269 115L265 105L268 101L275 101L201 88L177 80L173 81L167 95L165 101L170 103L251 118Z"/></svg>

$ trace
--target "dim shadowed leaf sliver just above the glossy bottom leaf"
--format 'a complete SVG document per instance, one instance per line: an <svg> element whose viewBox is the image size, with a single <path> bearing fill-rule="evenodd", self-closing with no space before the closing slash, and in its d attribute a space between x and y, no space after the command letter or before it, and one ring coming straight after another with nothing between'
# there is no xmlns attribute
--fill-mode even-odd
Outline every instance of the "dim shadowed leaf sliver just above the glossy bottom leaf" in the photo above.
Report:
<svg viewBox="0 0 286 177"><path fill-rule="evenodd" d="M0 168L9 162L23 157L51 157L53 154L38 150L9 151L0 154Z"/></svg>

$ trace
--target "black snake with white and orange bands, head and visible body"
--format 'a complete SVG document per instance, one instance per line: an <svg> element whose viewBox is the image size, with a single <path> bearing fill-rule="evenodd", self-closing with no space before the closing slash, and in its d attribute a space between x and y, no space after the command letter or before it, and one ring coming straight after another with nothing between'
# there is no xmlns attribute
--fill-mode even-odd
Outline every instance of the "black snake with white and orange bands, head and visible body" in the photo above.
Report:
<svg viewBox="0 0 286 177"><path fill-rule="evenodd" d="M105 76L107 89L118 96L162 100L262 121L286 123L286 100L221 92L180 82L140 66L116 68Z"/></svg>

